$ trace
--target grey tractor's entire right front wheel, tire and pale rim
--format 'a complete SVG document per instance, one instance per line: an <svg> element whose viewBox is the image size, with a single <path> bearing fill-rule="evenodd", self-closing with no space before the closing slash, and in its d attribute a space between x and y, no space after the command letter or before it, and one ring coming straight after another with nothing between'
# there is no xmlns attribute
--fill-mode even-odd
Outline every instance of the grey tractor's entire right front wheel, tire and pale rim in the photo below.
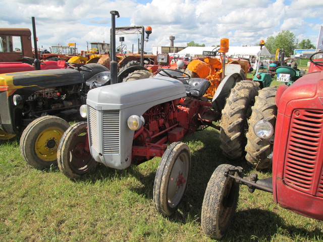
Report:
<svg viewBox="0 0 323 242"><path fill-rule="evenodd" d="M178 208L188 183L191 155L188 145L172 143L161 157L157 168L153 203L164 216L171 216Z"/></svg>

